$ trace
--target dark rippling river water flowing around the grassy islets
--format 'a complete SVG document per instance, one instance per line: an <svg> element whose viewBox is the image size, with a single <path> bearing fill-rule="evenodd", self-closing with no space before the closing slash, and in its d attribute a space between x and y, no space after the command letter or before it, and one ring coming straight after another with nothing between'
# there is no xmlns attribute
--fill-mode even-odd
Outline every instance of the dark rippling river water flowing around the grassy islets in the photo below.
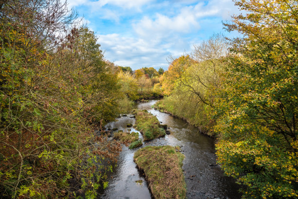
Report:
<svg viewBox="0 0 298 199"><path fill-rule="evenodd" d="M197 128L189 127L185 121L154 110L151 106L155 103L156 100L140 103L136 105L136 108L146 109L156 115L163 125L168 125L171 134L145 142L142 147L148 145L181 146L182 153L185 155L182 168L186 181L186 198L240 199L239 185L235 184L233 179L223 176L220 166L216 165L215 141L200 134ZM106 127L139 132L133 127L127 127L127 124L135 122L131 116L117 118ZM109 174L109 187L99 191L98 199L151 199L148 184L133 162L133 154L136 150L130 150L123 145L117 166Z"/></svg>

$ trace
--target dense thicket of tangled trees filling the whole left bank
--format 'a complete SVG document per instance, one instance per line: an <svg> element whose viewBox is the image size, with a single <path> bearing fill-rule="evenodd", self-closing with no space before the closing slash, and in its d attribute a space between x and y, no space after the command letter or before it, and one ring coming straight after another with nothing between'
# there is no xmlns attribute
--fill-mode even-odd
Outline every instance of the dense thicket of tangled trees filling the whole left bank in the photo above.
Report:
<svg viewBox="0 0 298 199"><path fill-rule="evenodd" d="M93 198L107 185L111 165L94 163L120 145L94 129L116 114L117 82L74 19L59 0L1 1L1 197L71 198L73 179Z"/></svg>

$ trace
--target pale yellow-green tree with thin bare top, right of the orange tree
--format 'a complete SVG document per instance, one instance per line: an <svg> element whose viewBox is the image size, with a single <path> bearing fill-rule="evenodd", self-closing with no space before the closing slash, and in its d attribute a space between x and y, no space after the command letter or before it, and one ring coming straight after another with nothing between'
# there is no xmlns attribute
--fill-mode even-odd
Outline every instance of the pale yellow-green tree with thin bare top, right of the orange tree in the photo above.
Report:
<svg viewBox="0 0 298 199"><path fill-rule="evenodd" d="M210 36L208 40L194 45L191 67L178 78L178 85L195 94L200 103L213 106L214 90L220 84L219 73L223 71L227 54L225 38L221 34Z"/></svg>

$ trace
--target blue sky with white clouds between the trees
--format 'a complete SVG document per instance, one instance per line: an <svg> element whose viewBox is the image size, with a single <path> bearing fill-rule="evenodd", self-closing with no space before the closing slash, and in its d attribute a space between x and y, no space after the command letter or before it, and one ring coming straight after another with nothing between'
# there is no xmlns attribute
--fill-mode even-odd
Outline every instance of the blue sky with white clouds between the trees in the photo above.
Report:
<svg viewBox="0 0 298 199"><path fill-rule="evenodd" d="M168 69L239 13L232 0L67 0L94 31L106 59L132 70Z"/></svg>

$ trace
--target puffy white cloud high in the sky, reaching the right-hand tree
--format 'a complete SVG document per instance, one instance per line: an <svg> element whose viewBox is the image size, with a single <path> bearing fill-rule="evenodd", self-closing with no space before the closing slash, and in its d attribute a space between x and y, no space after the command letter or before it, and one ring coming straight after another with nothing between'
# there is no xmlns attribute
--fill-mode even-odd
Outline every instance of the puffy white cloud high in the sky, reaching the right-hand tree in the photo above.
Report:
<svg viewBox="0 0 298 199"><path fill-rule="evenodd" d="M193 0L176 0L180 3L193 2ZM144 16L132 26L134 31L144 39L152 37L155 40L162 40L171 35L193 33L201 27L201 20L204 18L218 17L223 20L229 19L229 13L235 11L234 3L231 0L210 0L198 2L196 5L182 6L179 13L174 16L167 16L156 13L149 18Z"/></svg>

